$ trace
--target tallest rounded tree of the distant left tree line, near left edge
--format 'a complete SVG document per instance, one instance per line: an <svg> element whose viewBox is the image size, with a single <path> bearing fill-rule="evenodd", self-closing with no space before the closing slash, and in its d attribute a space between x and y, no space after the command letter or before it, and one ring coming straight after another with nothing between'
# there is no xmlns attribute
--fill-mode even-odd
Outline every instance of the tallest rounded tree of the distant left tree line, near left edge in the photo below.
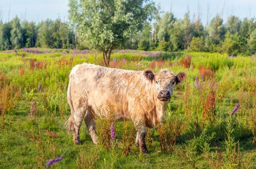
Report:
<svg viewBox="0 0 256 169"><path fill-rule="evenodd" d="M12 30L10 31L10 40L14 48L21 48L22 46L22 33L20 19L16 16L12 20Z"/></svg>

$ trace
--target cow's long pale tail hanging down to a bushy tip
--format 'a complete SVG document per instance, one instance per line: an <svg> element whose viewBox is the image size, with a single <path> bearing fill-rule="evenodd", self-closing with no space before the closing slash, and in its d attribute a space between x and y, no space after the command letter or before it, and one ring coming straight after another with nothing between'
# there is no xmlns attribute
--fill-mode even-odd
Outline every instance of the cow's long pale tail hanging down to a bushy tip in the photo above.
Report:
<svg viewBox="0 0 256 169"><path fill-rule="evenodd" d="M73 134L75 133L75 127L74 127L74 107L71 99L71 80L72 80L72 74L69 76L69 83L68 83L68 94L67 94L67 99L68 99L68 104L70 106L71 110L71 116L69 119L65 122L65 128L68 132L68 134Z"/></svg>

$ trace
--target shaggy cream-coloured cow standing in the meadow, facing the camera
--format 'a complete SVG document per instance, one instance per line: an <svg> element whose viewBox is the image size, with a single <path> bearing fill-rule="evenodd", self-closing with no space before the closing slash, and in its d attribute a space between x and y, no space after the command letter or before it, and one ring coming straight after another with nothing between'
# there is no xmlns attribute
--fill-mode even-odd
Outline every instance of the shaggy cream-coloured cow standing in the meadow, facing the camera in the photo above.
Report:
<svg viewBox="0 0 256 169"><path fill-rule="evenodd" d="M136 128L136 146L148 153L146 127L153 128L164 118L165 107L174 85L183 81L184 72L176 76L167 68L157 73L106 68L83 63L69 75L68 104L71 116L65 122L74 144L81 144L79 129L84 120L91 139L97 144L94 118L110 106L116 121L132 120Z"/></svg>

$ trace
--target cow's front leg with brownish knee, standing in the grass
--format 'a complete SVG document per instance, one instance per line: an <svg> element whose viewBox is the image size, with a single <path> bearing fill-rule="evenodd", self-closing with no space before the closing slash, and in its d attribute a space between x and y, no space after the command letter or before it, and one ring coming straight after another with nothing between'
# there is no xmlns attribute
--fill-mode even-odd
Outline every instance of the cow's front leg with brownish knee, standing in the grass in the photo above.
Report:
<svg viewBox="0 0 256 169"><path fill-rule="evenodd" d="M146 137L146 124L143 121L135 122L135 128L137 131L136 145L140 147L142 153L149 153L146 148L145 137Z"/></svg>

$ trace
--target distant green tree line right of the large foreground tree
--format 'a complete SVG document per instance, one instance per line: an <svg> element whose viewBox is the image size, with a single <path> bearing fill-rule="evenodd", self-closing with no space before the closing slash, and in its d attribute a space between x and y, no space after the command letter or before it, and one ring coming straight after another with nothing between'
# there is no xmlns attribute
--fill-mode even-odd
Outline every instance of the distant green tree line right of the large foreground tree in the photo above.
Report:
<svg viewBox="0 0 256 169"><path fill-rule="evenodd" d="M153 28L153 29L152 29ZM254 54L256 52L255 18L240 20L230 15L224 24L217 14L203 26L201 18L191 21L189 12L183 19L173 13L165 13L153 27L145 25L139 35L138 49L195 52L221 52L229 55Z"/></svg>

